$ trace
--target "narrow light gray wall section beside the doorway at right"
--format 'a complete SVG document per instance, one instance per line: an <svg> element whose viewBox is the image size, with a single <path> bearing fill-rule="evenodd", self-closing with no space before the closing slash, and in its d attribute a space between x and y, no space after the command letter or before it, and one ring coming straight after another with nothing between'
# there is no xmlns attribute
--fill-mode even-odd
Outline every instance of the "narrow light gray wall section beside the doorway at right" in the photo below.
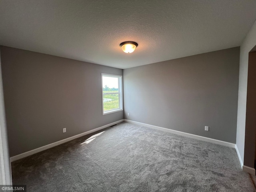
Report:
<svg viewBox="0 0 256 192"><path fill-rule="evenodd" d="M256 21L248 32L246 38L240 46L240 67L239 67L239 90L238 90L238 111L236 128L236 147L240 156L241 164L246 158L244 154L245 143L245 120L246 120L246 98L247 98L247 78L248 78L248 55L256 45Z"/></svg>

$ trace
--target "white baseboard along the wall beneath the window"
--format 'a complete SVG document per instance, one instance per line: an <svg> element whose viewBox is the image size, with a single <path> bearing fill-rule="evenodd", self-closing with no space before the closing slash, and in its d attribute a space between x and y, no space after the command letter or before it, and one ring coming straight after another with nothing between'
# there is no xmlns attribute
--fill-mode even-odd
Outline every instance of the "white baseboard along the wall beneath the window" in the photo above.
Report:
<svg viewBox="0 0 256 192"><path fill-rule="evenodd" d="M57 145L66 143L66 142L68 142L68 141L71 141L71 140L74 140L74 139L76 139L76 138L79 138L79 137L88 135L88 134L90 134L90 133L93 133L93 132L96 132L96 131L98 131L98 130L101 130L101 129L110 127L110 126L112 126L112 125L118 124L118 123L123 122L123 121L124 121L124 119L119 120L119 121L116 121L116 122L113 122L113 123L110 123L110 124L107 124L107 125L104 125L104 126L101 126L101 127L98 127L98 128L95 128L95 129L90 130L90 131L86 131L86 132L84 132L84 133L81 133L81 134L78 134L78 135L75 135L75 136L72 136L72 137L69 137L69 138L66 138L66 139L63 139L63 140L60 140L60 141L51 143L51 144L48 144L48 145L46 145L46 146L42 146L42 147L33 149L33 150L31 150L31 151L28 151L28 152L24 152L24 153L22 153L22 154L19 154L19 155L16 155L16 156L11 157L11 158L10 158L10 161L13 162L13 161L16 161L16 160L18 160L18 159L22 159L22 158L24 158L24 157L30 156L30 155L32 155L32 154L41 152L41 151L43 151L43 150L46 150L46 149L49 149L49 148L52 148L52 147L55 147L55 146L57 146Z"/></svg>

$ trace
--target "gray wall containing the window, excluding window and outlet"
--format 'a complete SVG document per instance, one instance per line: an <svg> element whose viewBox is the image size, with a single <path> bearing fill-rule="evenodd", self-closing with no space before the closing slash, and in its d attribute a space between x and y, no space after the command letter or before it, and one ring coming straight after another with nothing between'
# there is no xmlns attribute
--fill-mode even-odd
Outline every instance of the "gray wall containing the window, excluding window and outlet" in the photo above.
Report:
<svg viewBox="0 0 256 192"><path fill-rule="evenodd" d="M102 115L101 93L101 73L121 69L0 48L10 156L123 119Z"/></svg>

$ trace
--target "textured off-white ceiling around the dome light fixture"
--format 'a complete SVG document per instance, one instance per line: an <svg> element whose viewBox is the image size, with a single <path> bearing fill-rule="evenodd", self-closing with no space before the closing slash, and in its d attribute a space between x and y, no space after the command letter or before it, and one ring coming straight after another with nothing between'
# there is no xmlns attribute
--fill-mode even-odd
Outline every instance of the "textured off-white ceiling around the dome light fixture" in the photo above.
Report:
<svg viewBox="0 0 256 192"><path fill-rule="evenodd" d="M0 0L0 45L124 69L240 46L255 19L256 0Z"/></svg>

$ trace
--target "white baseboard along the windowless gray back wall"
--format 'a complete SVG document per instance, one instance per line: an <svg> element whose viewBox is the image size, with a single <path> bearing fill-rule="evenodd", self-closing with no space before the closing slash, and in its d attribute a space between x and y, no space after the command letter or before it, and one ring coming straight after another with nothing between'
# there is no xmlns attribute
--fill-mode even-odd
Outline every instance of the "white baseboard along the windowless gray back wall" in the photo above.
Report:
<svg viewBox="0 0 256 192"><path fill-rule="evenodd" d="M212 138L202 137L202 136L198 136L198 135L194 135L194 134L190 134L190 133L185 133L185 132L167 129L167 128L163 128L163 127L158 127L158 126L154 126L154 125L149 125L149 124L145 124L145 123L140 123L140 122L136 122L136 121L132 121L132 120L124 119L124 121L133 123L136 125L141 125L141 126L145 126L145 127L149 127L149 128L153 128L153 129L157 129L157 130L162 130L162 131L170 132L173 134L177 134L177 135L181 135L181 136L185 136L185 137L189 137L189 138L194 138L194 139L198 139L198 140L202 140L202 141L207 141L207 142L211 142L211 143L215 143L215 144L220 144L220 145L224 145L224 146L228 146L228 147L232 147L232 148L235 148L235 146L236 146L236 144L234 144L234 143L229 143L226 141L220 141L220 140L216 140L216 139L212 139Z"/></svg>

